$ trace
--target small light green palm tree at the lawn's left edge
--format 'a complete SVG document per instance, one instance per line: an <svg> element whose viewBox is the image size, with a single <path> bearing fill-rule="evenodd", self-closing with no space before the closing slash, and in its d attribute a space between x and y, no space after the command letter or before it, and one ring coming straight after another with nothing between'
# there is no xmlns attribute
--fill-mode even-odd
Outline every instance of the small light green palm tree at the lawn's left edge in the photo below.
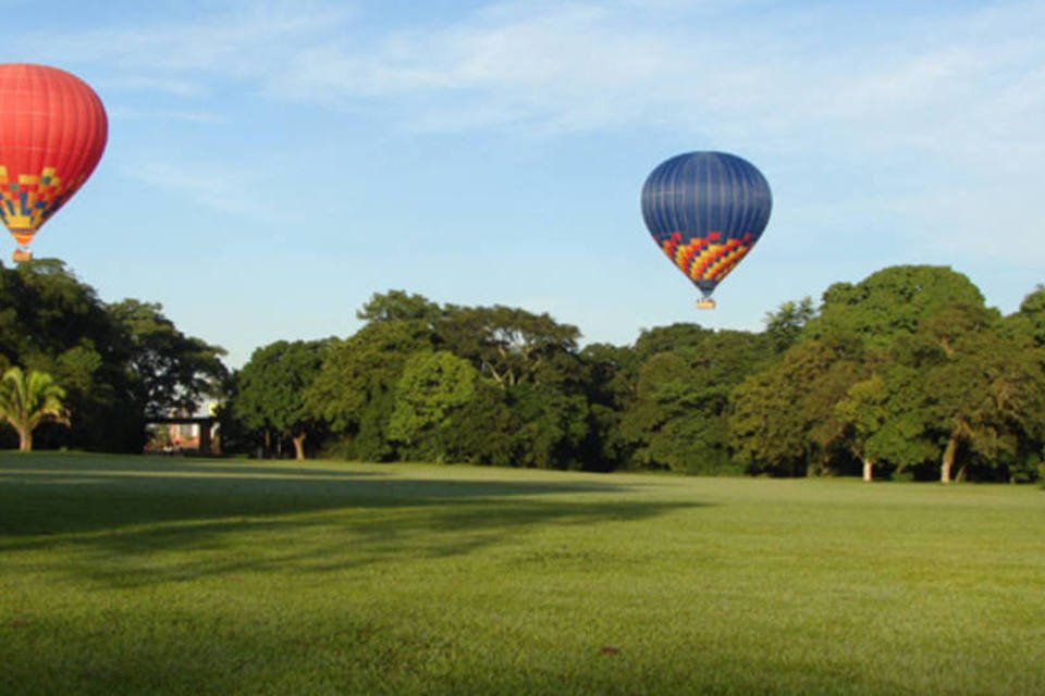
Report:
<svg viewBox="0 0 1045 696"><path fill-rule="evenodd" d="M65 389L46 372L11 368L0 378L0 418L19 433L19 450L33 449L33 431L45 421L69 424Z"/></svg>

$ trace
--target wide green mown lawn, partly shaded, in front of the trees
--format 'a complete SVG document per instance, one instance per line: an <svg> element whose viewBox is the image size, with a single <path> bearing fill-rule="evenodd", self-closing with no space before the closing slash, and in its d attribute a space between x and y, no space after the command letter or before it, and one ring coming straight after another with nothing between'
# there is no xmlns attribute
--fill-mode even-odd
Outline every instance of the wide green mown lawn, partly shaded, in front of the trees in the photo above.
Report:
<svg viewBox="0 0 1045 696"><path fill-rule="evenodd" d="M1045 492L0 453L0 693L1045 693Z"/></svg>

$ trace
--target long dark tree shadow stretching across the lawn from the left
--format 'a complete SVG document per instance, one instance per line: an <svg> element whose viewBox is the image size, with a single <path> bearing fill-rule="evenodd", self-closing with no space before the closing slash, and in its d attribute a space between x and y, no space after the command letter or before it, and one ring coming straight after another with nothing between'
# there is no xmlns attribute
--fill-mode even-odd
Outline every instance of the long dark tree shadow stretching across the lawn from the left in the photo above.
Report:
<svg viewBox="0 0 1045 696"><path fill-rule="evenodd" d="M0 557L61 547L63 560L51 570L114 586L445 558L542 525L700 505L644 501L626 495L632 486L565 477L427 480L126 459L16 463L0 462Z"/></svg>

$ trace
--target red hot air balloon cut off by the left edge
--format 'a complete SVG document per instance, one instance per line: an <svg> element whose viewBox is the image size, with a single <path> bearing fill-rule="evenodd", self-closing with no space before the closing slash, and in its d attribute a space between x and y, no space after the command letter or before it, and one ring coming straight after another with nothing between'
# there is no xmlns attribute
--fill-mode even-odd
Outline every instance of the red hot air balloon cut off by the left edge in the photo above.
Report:
<svg viewBox="0 0 1045 696"><path fill-rule="evenodd" d="M75 75L46 65L0 64L0 219L33 258L40 226L83 186L106 149L98 95Z"/></svg>

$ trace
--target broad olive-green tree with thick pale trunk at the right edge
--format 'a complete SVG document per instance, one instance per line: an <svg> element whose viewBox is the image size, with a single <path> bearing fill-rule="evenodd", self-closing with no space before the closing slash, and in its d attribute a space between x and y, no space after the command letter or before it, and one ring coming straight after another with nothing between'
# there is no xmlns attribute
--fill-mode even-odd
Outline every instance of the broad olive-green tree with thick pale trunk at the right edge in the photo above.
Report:
<svg viewBox="0 0 1045 696"><path fill-rule="evenodd" d="M836 407L852 451L897 470L935 460L941 481L1033 476L1040 455L1040 349L982 304L941 306L894 337ZM1032 461L1033 460L1033 461Z"/></svg>

